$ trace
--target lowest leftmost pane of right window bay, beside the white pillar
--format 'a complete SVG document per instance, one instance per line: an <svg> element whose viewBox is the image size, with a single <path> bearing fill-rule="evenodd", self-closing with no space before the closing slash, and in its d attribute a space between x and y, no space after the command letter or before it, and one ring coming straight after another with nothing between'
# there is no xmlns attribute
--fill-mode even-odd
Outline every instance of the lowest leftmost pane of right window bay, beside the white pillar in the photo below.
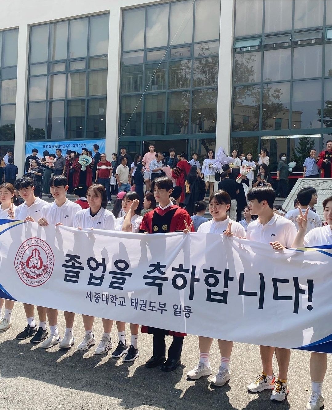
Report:
<svg viewBox="0 0 332 410"><path fill-rule="evenodd" d="M233 131L255 131L259 129L259 107L261 87L244 85L234 87Z"/></svg>

